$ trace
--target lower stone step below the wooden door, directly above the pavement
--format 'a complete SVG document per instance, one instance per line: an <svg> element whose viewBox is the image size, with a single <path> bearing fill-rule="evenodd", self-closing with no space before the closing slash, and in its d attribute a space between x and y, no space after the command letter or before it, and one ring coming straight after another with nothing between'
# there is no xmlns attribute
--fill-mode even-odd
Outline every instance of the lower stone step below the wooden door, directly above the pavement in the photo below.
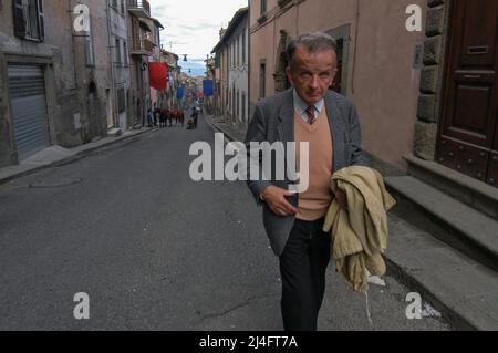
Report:
<svg viewBox="0 0 498 353"><path fill-rule="evenodd" d="M386 177L393 212L498 271L498 221L411 176Z"/></svg>

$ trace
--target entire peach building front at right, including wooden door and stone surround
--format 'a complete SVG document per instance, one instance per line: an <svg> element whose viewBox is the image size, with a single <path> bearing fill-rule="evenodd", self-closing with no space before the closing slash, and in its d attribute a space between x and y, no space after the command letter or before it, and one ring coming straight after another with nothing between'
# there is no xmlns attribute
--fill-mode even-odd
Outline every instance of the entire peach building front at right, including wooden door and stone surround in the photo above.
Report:
<svg viewBox="0 0 498 353"><path fill-rule="evenodd" d="M290 86L289 41L326 32L339 54L331 89L355 102L378 166L468 203L498 199L497 13L494 0L251 0L251 108Z"/></svg>

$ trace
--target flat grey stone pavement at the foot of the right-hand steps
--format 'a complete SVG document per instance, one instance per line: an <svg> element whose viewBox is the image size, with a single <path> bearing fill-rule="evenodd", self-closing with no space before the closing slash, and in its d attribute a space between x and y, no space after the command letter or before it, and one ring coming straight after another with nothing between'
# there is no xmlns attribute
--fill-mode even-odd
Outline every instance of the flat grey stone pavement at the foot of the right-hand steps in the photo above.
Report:
<svg viewBox="0 0 498 353"><path fill-rule="evenodd" d="M457 330L498 330L498 273L390 214L388 271ZM407 305L409 302L406 303ZM404 313L402 313L404 314Z"/></svg>

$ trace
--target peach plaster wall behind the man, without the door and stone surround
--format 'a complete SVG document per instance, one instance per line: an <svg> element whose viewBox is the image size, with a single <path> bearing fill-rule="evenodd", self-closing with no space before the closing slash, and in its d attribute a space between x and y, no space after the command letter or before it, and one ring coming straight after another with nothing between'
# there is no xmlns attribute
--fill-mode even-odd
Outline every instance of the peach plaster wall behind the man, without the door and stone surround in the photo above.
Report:
<svg viewBox="0 0 498 353"><path fill-rule="evenodd" d="M373 156L407 169L403 155L413 152L421 69L417 52L423 32L406 30L406 8L426 0L251 0L250 101L281 92L286 48L300 34L322 31L338 41L339 74L334 89L352 98ZM387 137L388 136L388 137Z"/></svg>

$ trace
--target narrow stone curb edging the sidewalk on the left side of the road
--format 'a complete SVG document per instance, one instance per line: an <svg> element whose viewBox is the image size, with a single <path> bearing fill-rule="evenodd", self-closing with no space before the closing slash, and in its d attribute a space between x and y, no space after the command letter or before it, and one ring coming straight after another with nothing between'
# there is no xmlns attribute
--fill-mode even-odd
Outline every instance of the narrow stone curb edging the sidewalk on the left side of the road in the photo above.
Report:
<svg viewBox="0 0 498 353"><path fill-rule="evenodd" d="M108 146L117 144L120 142L127 142L128 139L133 139L134 137L137 138L137 137L139 137L139 136L142 136L142 135L144 135L146 133L153 133L153 132L156 132L156 131L158 131L158 128L147 129L147 131L144 131L144 132L136 133L134 135L116 137L116 139L110 141L110 142L107 142L107 143L105 143L103 145L89 147L87 149L80 150L75 155L69 156L69 157L66 157L64 159L52 162L52 163L40 165L40 166L35 166L35 167L32 167L30 169L22 170L22 172L15 173L13 175L7 176L4 178L0 178L0 185L3 185L3 184L7 184L9 181L12 181L14 179L22 178L24 176L38 173L38 172L43 170L43 169L48 169L48 168L51 168L51 167L63 166L63 165L68 165L68 164L74 163L76 160L80 160L80 159L83 159L83 158L87 157L89 155L91 155L93 152L95 152L97 149L101 149L101 148L104 148L104 147L108 147Z"/></svg>

